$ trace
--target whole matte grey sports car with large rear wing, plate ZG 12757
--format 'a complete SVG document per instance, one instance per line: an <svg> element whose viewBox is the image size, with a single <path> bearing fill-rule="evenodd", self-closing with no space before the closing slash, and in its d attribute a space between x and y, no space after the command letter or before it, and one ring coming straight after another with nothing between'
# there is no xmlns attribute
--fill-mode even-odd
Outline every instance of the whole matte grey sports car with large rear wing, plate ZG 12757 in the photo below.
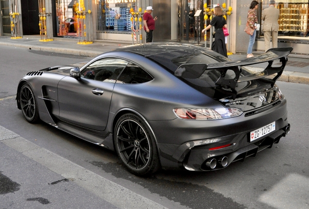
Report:
<svg viewBox="0 0 309 209"><path fill-rule="evenodd" d="M231 61L188 44L125 46L83 65L28 73L17 107L31 123L41 119L116 150L135 175L222 169L289 134L287 101L275 81L291 51ZM280 67L272 66L276 59ZM244 67L262 62L262 72Z"/></svg>

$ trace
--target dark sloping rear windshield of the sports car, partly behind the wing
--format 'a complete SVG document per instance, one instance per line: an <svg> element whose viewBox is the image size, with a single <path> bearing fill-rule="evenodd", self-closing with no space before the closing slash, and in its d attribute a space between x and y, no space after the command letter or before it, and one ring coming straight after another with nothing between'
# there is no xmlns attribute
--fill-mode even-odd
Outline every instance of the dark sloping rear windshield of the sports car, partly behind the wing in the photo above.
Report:
<svg viewBox="0 0 309 209"><path fill-rule="evenodd" d="M225 62L230 61L226 57L208 50L204 48L195 48L192 50L188 49L186 50L175 50L170 52L163 52L160 54L155 54L149 56L150 59L156 61L158 64L163 66L165 69L167 69L170 73L174 74L176 69L182 65L182 64L189 64L189 63L218 63L218 62ZM244 69L241 70L240 76L244 75L250 75L251 73L249 71L246 71ZM226 91L229 91L229 89L224 89L224 87L218 87L215 85L216 81L221 76L221 73L216 70L206 70L203 75L201 75L199 78L180 78L185 83L187 83L189 86L193 87L196 90L199 90L200 92L206 94L207 96L210 96L211 98L215 99L221 99L223 97L226 97ZM228 70L226 72L225 78L234 78L235 73L232 70ZM241 86L240 86L241 85ZM238 84L237 89L243 89L247 85L247 82L242 82ZM224 92L222 91L224 90Z"/></svg>

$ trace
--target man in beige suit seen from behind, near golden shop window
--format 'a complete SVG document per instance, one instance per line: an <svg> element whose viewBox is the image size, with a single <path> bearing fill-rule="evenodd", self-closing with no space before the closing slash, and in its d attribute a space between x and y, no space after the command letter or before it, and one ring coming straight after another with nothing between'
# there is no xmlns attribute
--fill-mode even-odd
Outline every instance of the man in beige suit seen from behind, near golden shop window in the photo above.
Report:
<svg viewBox="0 0 309 209"><path fill-rule="evenodd" d="M262 20L264 20L263 31L265 38L265 52L270 48L270 37L272 36L273 48L278 47L278 19L279 9L275 8L275 0L269 1L269 7L263 10Z"/></svg>

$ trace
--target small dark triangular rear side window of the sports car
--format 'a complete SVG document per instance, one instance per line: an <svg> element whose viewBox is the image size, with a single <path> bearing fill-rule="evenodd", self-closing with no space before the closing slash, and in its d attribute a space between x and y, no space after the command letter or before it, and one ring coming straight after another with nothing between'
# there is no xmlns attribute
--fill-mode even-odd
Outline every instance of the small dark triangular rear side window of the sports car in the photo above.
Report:
<svg viewBox="0 0 309 209"><path fill-rule="evenodd" d="M138 84L153 80L146 71L133 63L129 63L119 76L117 83Z"/></svg>

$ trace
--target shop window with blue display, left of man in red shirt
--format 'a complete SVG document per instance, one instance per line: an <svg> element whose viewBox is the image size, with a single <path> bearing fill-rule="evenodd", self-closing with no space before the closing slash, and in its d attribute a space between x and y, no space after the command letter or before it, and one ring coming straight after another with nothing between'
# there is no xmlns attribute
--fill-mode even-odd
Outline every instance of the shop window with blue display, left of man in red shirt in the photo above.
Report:
<svg viewBox="0 0 309 209"><path fill-rule="evenodd" d="M131 31L130 9L136 7L135 0L99 0L99 31Z"/></svg>

